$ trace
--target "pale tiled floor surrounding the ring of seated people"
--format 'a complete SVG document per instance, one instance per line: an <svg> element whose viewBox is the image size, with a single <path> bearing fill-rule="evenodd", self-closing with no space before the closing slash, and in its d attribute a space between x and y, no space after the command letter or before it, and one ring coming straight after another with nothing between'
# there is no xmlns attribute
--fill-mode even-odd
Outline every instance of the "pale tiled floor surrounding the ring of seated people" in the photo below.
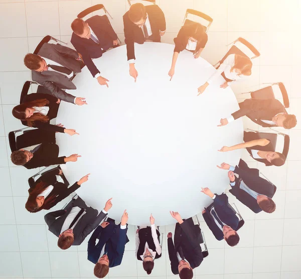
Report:
<svg viewBox="0 0 301 279"><path fill-rule="evenodd" d="M48 232L44 212L28 213L27 178L35 170L13 166L9 160L7 135L22 127L11 115L18 104L24 81L30 72L23 57L33 51L43 36L49 34L68 42L70 23L85 8L104 4L113 16L112 25L124 40L122 15L126 0L0 0L0 276L28 278L93 277L93 264L86 258L87 240L80 246L62 251L56 237ZM209 41L202 57L216 63L227 44L239 36L253 43L261 52L254 60L253 74L247 82L233 85L239 101L248 98L241 92L258 88L263 82L282 81L290 97L290 112L301 122L301 4L299 0L157 0L167 19L163 42L173 43L187 8L197 9L213 18ZM276 96L280 98L280 96ZM246 128L258 125L244 119ZM291 137L287 163L282 167L265 167L246 153L243 158L258 167L277 186L276 212L255 216L238 201L245 219L239 231L241 241L235 248L214 239L202 217L209 256L195 269L196 279L299 279L301 278L301 125L284 131ZM235 201L230 195L230 200ZM65 202L57 205L61 208ZM165 237L173 226L161 227ZM134 227L128 230L122 264L111 268L109 277L146 278L134 256ZM166 279L173 276L166 239L163 256L155 262L150 276Z"/></svg>

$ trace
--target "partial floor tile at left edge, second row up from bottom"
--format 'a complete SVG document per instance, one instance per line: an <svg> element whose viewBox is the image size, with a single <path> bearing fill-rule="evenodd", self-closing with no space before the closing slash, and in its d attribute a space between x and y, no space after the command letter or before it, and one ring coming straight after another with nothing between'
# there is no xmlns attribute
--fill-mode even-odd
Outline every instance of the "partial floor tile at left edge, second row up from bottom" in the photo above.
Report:
<svg viewBox="0 0 301 279"><path fill-rule="evenodd" d="M0 252L20 251L16 225L1 225L0 239Z"/></svg>

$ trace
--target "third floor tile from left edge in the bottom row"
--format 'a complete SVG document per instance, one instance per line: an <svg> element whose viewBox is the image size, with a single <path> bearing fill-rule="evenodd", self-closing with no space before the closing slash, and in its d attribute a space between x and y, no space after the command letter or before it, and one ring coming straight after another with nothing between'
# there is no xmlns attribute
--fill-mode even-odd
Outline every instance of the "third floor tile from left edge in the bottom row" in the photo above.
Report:
<svg viewBox="0 0 301 279"><path fill-rule="evenodd" d="M52 277L79 277L77 252L49 252L49 256Z"/></svg>

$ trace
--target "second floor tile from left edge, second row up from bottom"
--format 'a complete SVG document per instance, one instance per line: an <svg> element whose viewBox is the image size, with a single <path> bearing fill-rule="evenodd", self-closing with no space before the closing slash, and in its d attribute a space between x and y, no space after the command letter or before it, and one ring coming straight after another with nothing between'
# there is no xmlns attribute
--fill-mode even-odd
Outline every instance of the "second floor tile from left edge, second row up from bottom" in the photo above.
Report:
<svg viewBox="0 0 301 279"><path fill-rule="evenodd" d="M17 228L21 252L48 252L45 225L17 225Z"/></svg>

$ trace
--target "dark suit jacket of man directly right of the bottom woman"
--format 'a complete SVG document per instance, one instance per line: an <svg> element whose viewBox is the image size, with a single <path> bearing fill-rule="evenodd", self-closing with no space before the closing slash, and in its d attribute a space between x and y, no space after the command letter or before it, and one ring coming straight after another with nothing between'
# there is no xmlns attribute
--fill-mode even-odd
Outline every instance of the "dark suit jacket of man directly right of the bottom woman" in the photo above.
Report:
<svg viewBox="0 0 301 279"><path fill-rule="evenodd" d="M203 261L202 248L198 241L201 233L200 227L194 225L192 218L184 220L180 225L176 224L175 245L172 238L168 238L168 254L171 261L171 268L174 274L179 274L179 260L177 252L185 257L192 268L198 267Z"/></svg>

